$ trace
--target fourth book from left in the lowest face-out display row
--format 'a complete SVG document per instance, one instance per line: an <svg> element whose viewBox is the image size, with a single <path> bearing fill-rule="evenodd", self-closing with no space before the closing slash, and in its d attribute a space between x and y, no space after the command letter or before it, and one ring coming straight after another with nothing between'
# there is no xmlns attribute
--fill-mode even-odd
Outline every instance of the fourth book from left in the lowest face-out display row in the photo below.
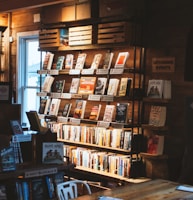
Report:
<svg viewBox="0 0 193 200"><path fill-rule="evenodd" d="M84 118L86 103L87 103L86 100L80 100L80 99L76 100L76 105L75 105L74 114L73 114L74 118L78 118L78 119Z"/></svg>

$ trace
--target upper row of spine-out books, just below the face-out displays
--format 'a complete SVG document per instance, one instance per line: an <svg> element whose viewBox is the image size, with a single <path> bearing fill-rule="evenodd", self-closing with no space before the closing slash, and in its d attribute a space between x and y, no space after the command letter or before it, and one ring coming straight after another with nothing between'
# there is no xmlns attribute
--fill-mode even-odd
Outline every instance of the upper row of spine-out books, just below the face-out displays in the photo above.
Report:
<svg viewBox="0 0 193 200"><path fill-rule="evenodd" d="M57 138L72 142L82 142L131 150L132 132L119 128L78 126L63 123L51 123L51 130L57 133Z"/></svg>

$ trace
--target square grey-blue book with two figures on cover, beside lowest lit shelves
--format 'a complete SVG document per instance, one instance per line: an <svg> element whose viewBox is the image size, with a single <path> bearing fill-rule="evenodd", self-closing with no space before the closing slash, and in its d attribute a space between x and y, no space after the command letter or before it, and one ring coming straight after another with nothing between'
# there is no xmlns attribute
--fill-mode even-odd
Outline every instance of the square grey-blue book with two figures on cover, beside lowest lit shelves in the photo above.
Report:
<svg viewBox="0 0 193 200"><path fill-rule="evenodd" d="M64 147L62 142L42 143L42 163L43 164L63 164Z"/></svg>

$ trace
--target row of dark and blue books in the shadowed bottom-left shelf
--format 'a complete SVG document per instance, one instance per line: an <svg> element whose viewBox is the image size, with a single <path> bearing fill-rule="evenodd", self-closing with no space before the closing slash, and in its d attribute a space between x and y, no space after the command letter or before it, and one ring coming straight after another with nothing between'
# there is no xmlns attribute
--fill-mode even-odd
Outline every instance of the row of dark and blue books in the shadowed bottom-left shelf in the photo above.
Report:
<svg viewBox="0 0 193 200"><path fill-rule="evenodd" d="M57 197L56 186L64 182L64 173L33 179L18 179L15 183L17 199L53 199Z"/></svg>

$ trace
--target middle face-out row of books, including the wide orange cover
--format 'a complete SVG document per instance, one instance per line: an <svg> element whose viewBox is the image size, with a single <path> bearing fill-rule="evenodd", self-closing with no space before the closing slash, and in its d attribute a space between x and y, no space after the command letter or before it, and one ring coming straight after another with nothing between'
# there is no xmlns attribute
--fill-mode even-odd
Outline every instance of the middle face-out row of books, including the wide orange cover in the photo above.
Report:
<svg viewBox="0 0 193 200"><path fill-rule="evenodd" d="M46 76L41 88L42 92L63 93L65 89L65 80L54 80L53 76ZM72 78L69 93L70 94L96 94L129 96L132 78L122 77L110 78L107 84L106 77L88 77Z"/></svg>

